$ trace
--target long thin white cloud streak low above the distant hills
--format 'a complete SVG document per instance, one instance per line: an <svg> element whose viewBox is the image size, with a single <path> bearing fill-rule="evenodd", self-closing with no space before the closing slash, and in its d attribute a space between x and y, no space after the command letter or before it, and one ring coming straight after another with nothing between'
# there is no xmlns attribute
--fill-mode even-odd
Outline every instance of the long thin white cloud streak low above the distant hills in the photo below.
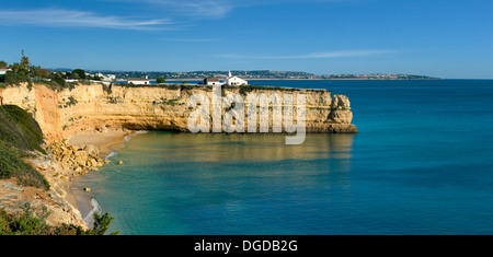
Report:
<svg viewBox="0 0 493 257"><path fill-rule="evenodd" d="M379 56L386 54L394 54L395 50L345 50L345 51L323 51L308 55L293 55L293 56L255 56L255 55L215 55L217 58L226 59L323 59L323 58L344 58L344 57L367 57Z"/></svg>

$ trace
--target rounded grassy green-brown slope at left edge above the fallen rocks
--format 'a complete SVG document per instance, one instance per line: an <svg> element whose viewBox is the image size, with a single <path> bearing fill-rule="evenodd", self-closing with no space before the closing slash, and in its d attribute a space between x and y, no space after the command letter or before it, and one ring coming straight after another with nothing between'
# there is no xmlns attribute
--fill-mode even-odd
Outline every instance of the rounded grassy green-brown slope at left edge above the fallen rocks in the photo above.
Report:
<svg viewBox="0 0 493 257"><path fill-rule="evenodd" d="M43 132L39 125L22 108L14 105L0 106L0 179L15 177L23 186L48 189L48 182L23 157L39 147Z"/></svg>

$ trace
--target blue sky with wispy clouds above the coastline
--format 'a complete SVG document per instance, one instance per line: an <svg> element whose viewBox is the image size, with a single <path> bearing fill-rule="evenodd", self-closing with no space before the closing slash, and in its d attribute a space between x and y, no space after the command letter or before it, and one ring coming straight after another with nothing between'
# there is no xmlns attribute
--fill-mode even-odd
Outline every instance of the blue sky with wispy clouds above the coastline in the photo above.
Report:
<svg viewBox="0 0 493 257"><path fill-rule="evenodd" d="M2 0L0 60L493 79L492 13L491 0Z"/></svg>

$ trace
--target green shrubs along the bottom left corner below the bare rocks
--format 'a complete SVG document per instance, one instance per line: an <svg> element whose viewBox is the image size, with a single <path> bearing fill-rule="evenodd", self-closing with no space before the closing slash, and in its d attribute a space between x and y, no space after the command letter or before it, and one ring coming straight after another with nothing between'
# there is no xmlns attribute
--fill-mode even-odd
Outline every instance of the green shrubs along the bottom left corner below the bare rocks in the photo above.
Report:
<svg viewBox="0 0 493 257"><path fill-rule="evenodd" d="M103 215L94 214L93 229L84 230L81 226L62 224L48 225L46 209L35 215L30 205L23 208L22 213L11 214L0 210L0 235L104 235L114 218L106 212ZM117 235L113 232L111 235Z"/></svg>

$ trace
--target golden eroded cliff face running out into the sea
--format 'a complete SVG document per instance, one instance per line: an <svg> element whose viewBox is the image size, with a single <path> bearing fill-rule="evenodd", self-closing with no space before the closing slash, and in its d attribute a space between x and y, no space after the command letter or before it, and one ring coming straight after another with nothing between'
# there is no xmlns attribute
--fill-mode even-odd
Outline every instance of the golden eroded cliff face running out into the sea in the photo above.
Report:
<svg viewBox="0 0 493 257"><path fill-rule="evenodd" d="M323 90L253 90L249 93L240 89L222 90L222 96L234 93L242 95L245 102L245 94L293 94L295 103L298 94L305 94L307 132L357 132L351 124L353 113L349 101L344 95L331 97L331 92ZM91 84L54 92L43 84L35 84L31 90L27 85L21 85L0 91L3 104L18 105L34 115L47 143L94 129L188 131L188 116L195 110L188 107L188 100L194 94L206 95L211 102L213 90L206 86L172 90L113 85L111 90L105 90L101 84ZM229 110L222 108L222 117ZM296 109L294 117L296 122ZM272 110L270 128L271 125Z"/></svg>

